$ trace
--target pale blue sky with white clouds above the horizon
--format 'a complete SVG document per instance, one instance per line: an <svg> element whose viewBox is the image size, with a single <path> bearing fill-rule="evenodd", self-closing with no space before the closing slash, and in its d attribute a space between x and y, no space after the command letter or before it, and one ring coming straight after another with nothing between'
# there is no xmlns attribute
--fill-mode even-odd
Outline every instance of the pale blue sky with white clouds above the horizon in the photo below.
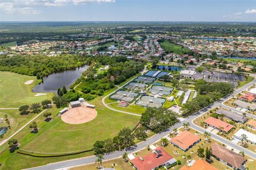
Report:
<svg viewBox="0 0 256 170"><path fill-rule="evenodd" d="M256 21L256 0L0 0L0 21Z"/></svg>

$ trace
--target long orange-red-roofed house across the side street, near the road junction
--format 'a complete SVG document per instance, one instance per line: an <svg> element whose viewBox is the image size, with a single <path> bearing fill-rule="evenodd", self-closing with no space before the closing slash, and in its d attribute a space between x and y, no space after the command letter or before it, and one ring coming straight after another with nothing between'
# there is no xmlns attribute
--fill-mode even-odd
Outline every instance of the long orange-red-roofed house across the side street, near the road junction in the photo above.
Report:
<svg viewBox="0 0 256 170"><path fill-rule="evenodd" d="M208 126L211 126L212 128L215 128L218 130L220 130L220 128L223 128L222 131L224 131L226 133L228 133L232 128L234 128L233 125L223 122L221 120L218 120L218 118L214 118L214 117L209 117L204 122Z"/></svg>

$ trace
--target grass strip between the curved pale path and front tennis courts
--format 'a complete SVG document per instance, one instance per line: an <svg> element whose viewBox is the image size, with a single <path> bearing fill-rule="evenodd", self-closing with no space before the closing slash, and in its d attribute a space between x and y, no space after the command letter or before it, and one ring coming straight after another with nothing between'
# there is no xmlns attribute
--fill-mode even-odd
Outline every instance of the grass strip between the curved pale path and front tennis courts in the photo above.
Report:
<svg viewBox="0 0 256 170"><path fill-rule="evenodd" d="M142 114L146 111L145 107L137 106L135 104L129 105L127 107L118 106L118 103L113 103L108 105L111 108L117 109L119 111L125 111L125 112L131 112L131 113L137 113Z"/></svg>

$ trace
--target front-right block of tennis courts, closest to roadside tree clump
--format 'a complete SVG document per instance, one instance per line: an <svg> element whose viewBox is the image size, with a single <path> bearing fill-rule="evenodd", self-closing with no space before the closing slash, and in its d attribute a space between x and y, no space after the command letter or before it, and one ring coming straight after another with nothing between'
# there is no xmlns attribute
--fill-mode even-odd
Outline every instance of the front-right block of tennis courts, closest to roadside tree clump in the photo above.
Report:
<svg viewBox="0 0 256 170"><path fill-rule="evenodd" d="M162 107L166 99L151 96L141 96L136 105L143 107Z"/></svg>

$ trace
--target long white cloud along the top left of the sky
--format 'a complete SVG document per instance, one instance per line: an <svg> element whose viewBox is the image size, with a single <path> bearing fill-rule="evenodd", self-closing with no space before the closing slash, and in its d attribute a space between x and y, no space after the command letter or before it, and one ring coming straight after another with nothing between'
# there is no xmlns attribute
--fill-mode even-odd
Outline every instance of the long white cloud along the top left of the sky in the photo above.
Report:
<svg viewBox="0 0 256 170"><path fill-rule="evenodd" d="M59 7L68 4L85 4L90 2L115 2L115 0L0 0L0 13L38 14L38 7Z"/></svg>

